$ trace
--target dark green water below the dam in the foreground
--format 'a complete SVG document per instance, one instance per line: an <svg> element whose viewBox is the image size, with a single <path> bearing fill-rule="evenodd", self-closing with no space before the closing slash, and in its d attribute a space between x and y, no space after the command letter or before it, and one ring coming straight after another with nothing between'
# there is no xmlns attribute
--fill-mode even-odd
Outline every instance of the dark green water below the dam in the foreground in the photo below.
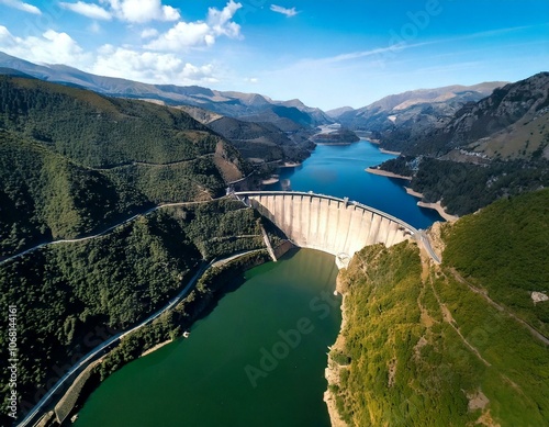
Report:
<svg viewBox="0 0 549 427"><path fill-rule="evenodd" d="M247 271L188 339L102 383L75 426L329 426L324 368L340 324L336 276L334 257L310 249Z"/></svg>

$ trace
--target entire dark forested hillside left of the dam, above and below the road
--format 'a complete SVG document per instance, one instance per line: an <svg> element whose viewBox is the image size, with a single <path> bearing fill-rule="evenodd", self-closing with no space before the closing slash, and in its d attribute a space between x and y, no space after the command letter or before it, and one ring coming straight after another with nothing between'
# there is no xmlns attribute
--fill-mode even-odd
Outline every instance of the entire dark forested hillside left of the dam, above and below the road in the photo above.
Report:
<svg viewBox="0 0 549 427"><path fill-rule="evenodd" d="M165 306L205 260L265 243L258 214L221 198L227 182L250 172L247 164L184 112L7 76L0 99L0 302L21 314L21 416L93 347ZM173 202L104 235L5 260ZM177 321L163 317L146 346L178 336L194 315L186 306Z"/></svg>

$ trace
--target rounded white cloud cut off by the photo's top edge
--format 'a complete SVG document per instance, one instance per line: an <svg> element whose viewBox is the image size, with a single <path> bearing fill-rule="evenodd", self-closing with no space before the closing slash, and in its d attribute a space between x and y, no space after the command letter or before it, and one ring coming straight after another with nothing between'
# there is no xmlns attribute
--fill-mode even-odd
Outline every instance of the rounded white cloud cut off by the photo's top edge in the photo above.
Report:
<svg viewBox="0 0 549 427"><path fill-rule="evenodd" d="M145 23L149 21L177 21L179 11L171 5L163 5L160 0L100 0L109 4L122 21Z"/></svg>

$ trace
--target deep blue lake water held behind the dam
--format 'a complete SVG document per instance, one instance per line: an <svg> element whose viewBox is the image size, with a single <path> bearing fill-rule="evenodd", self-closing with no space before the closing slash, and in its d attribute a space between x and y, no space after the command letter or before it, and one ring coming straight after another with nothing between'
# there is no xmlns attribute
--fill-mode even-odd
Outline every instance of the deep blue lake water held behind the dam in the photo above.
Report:
<svg viewBox="0 0 549 427"><path fill-rule="evenodd" d="M314 191L349 198L416 228L427 228L435 221L444 221L436 211L417 206L417 199L404 190L403 184L407 181L365 171L394 157L381 153L377 145L365 139L351 145L318 145L301 166L281 169L280 182L265 186L265 189Z"/></svg>

